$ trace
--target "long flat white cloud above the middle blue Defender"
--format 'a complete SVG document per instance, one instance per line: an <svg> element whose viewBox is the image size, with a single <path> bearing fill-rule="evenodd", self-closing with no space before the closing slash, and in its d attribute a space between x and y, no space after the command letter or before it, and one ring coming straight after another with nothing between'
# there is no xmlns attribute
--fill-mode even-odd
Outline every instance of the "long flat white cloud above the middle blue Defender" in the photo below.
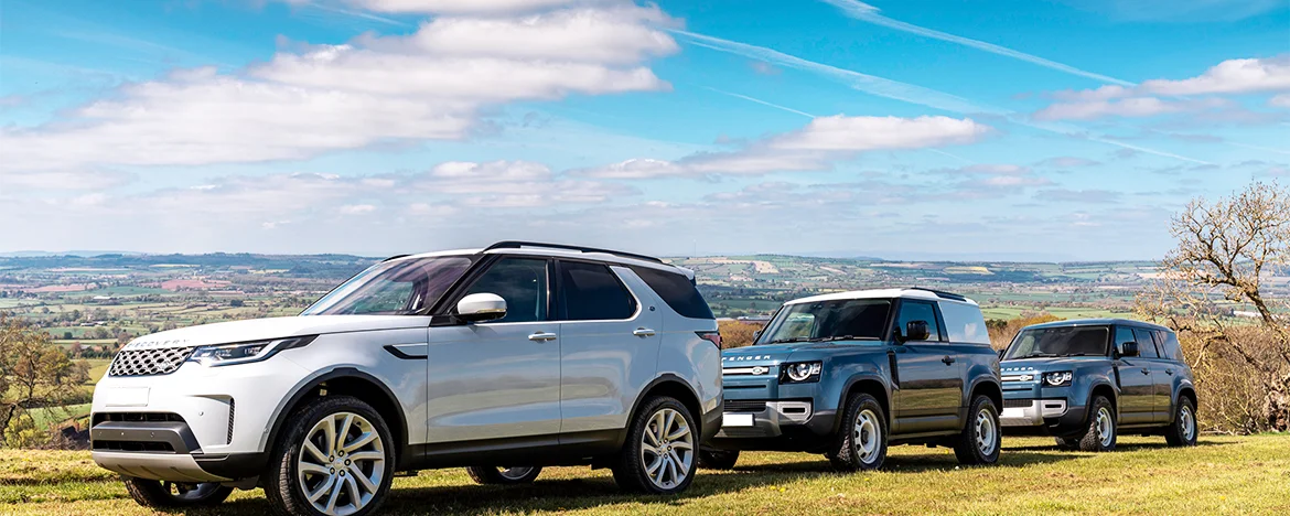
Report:
<svg viewBox="0 0 1290 516"><path fill-rule="evenodd" d="M738 151L699 152L675 161L631 159L577 173L600 178L657 178L827 170L833 163L860 152L964 144L989 132L989 126L971 119L835 115L751 142Z"/></svg>

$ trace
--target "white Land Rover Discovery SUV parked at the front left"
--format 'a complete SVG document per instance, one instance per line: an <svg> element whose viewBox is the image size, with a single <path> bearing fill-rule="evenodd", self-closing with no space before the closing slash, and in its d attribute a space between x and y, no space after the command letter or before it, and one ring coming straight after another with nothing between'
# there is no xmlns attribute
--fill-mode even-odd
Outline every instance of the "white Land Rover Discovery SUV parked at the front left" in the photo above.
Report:
<svg viewBox="0 0 1290 516"><path fill-rule="evenodd" d="M141 337L94 391L90 439L144 506L262 486L283 513L364 515L422 468L591 464L677 493L721 402L694 272L507 241L390 258L295 317Z"/></svg>

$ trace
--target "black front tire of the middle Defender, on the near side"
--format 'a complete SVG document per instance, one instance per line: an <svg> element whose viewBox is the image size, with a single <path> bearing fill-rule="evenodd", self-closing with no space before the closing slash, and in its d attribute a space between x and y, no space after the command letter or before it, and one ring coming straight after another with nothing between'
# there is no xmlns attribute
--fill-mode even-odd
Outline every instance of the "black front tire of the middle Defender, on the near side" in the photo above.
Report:
<svg viewBox="0 0 1290 516"><path fill-rule="evenodd" d="M851 395L833 449L824 457L837 471L868 471L882 467L886 450L888 419L882 405L871 395Z"/></svg>

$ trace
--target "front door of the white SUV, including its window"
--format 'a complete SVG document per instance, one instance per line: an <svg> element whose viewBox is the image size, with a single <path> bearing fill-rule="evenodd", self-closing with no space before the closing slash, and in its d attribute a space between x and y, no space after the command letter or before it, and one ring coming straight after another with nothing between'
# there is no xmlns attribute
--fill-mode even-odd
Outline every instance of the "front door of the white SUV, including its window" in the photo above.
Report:
<svg viewBox="0 0 1290 516"><path fill-rule="evenodd" d="M560 432L560 324L546 258L501 258L467 289L506 299L506 317L430 328L430 442Z"/></svg>

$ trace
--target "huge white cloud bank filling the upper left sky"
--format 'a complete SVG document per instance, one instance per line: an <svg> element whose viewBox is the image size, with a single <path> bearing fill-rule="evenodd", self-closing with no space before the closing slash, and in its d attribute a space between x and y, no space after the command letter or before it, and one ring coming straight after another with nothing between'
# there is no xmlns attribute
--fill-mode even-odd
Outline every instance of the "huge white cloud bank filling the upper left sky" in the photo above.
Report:
<svg viewBox="0 0 1290 516"><path fill-rule="evenodd" d="M439 4L445 9L437 12L464 13L452 6L476 3ZM461 139L484 110L513 101L670 88L646 63L676 52L667 32L651 28L672 25L657 6L592 3L502 17L495 14L507 9L494 5L494 15L441 15L408 36L281 52L233 74L197 68L128 84L71 120L0 129L0 144L12 150L4 166L303 159L391 141Z"/></svg>

